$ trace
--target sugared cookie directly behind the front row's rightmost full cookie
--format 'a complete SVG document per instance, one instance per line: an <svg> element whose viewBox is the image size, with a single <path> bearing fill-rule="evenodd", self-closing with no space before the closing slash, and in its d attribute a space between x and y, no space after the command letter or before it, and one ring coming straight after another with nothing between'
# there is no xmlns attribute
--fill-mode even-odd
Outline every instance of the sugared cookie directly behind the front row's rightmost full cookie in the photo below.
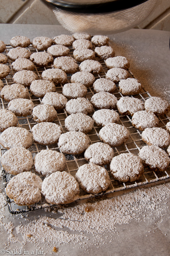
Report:
<svg viewBox="0 0 170 256"><path fill-rule="evenodd" d="M142 132L142 140L147 145L155 145L159 148L166 148L170 144L170 135L169 132L160 128L146 128Z"/></svg>

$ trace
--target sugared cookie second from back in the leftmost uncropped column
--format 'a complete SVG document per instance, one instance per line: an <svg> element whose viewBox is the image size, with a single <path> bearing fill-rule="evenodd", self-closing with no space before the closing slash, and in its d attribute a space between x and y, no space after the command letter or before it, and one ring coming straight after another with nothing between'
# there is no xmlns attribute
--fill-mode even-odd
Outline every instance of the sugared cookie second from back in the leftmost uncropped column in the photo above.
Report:
<svg viewBox="0 0 170 256"><path fill-rule="evenodd" d="M31 53L28 49L23 47L16 47L9 50L7 56L12 61L15 61L18 58L26 58L29 59Z"/></svg>

